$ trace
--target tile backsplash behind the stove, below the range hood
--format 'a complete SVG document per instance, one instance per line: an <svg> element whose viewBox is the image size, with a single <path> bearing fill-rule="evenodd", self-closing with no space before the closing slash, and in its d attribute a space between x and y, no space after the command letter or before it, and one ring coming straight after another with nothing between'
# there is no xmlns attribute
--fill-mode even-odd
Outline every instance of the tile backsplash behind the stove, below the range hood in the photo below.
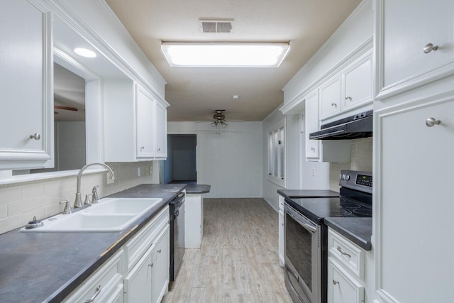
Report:
<svg viewBox="0 0 454 303"><path fill-rule="evenodd" d="M372 137L352 140L350 163L330 163L330 189L339 191L341 170L372 172Z"/></svg>

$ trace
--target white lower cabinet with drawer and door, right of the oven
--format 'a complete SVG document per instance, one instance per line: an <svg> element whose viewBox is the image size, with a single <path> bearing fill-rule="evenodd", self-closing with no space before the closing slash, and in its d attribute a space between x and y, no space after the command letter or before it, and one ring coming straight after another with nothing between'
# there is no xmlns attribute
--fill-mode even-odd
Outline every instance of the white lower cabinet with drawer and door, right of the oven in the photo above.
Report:
<svg viewBox="0 0 454 303"><path fill-rule="evenodd" d="M328 229L328 303L362 303L365 251Z"/></svg>

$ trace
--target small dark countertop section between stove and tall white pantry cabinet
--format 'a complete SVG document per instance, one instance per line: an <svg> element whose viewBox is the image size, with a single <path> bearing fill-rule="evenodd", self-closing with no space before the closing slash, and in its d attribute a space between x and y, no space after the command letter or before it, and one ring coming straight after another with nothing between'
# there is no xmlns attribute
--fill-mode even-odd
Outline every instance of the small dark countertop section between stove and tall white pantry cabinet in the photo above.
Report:
<svg viewBox="0 0 454 303"><path fill-rule="evenodd" d="M364 250L371 250L372 218L325 218L325 224Z"/></svg>

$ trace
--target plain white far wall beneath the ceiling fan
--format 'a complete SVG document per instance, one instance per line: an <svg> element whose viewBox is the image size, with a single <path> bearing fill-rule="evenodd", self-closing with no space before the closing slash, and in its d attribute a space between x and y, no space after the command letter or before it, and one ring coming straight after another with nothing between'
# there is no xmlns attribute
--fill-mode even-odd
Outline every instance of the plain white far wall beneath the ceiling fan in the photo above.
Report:
<svg viewBox="0 0 454 303"><path fill-rule="evenodd" d="M204 197L262 197L262 122L169 122L167 132L196 133L197 183L210 184Z"/></svg>

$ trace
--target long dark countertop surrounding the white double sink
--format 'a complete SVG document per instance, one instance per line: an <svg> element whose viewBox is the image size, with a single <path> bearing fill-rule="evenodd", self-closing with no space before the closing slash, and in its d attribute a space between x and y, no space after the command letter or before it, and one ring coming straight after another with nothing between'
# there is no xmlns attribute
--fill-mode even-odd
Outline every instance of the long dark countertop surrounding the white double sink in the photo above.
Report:
<svg viewBox="0 0 454 303"><path fill-rule="evenodd" d="M0 302L61 302L185 186L141 184L109 196L162 198L121 232L0 235Z"/></svg>

